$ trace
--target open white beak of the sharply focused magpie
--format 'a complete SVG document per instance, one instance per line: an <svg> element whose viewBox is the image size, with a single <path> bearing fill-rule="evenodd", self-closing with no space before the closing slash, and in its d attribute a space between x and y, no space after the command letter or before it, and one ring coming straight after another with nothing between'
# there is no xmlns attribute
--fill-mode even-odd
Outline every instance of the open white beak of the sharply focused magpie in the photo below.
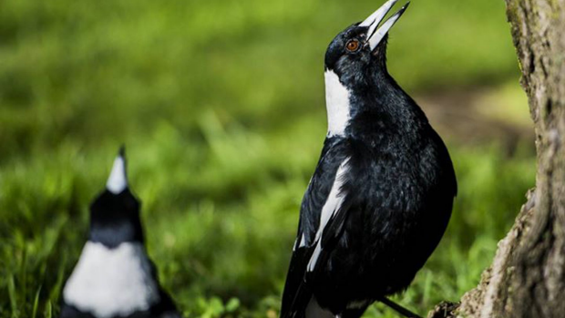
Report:
<svg viewBox="0 0 565 318"><path fill-rule="evenodd" d="M368 27L366 43L371 48L371 51L373 51L375 47L378 46L383 37L386 36L388 31L395 25L400 16L404 14L408 5L410 5L410 2L406 3L406 5L398 10L395 15L391 16L381 27L377 29L376 27L379 26L379 24L385 19L385 15L390 11L390 9L392 9L393 6L395 6L397 1L398 0L388 0L385 5L382 5L380 8L378 8L373 13L373 15L369 15L369 17L367 17L365 21L359 24L359 26Z"/></svg>

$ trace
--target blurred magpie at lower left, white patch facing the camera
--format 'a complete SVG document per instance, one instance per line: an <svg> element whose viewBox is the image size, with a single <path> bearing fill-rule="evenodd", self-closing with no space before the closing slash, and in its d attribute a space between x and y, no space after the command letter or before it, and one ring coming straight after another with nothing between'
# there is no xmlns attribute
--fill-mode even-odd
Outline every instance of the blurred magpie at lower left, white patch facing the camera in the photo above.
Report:
<svg viewBox="0 0 565 318"><path fill-rule="evenodd" d="M145 249L122 147L90 205L90 232L63 289L61 318L180 318Z"/></svg>

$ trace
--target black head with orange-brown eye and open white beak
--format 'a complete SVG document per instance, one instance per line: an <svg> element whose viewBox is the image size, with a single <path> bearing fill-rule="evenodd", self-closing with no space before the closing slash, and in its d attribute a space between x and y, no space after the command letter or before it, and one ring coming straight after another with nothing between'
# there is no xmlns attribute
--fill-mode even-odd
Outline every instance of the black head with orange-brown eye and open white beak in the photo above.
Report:
<svg viewBox="0 0 565 318"><path fill-rule="evenodd" d="M387 34L404 14L409 3L382 26L377 26L396 1L387 1L365 21L347 27L335 36L328 46L325 53L325 70L334 72L346 87L366 82L374 77L375 73L386 72Z"/></svg>

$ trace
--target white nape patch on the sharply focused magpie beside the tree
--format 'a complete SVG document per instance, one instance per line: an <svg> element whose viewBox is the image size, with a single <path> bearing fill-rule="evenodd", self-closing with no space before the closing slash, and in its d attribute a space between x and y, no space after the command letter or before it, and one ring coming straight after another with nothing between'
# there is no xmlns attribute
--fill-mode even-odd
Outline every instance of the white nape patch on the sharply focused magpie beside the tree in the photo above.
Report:
<svg viewBox="0 0 565 318"><path fill-rule="evenodd" d="M350 92L339 81L332 70L324 73L325 77L325 107L328 116L328 137L344 136L345 128L351 119Z"/></svg>

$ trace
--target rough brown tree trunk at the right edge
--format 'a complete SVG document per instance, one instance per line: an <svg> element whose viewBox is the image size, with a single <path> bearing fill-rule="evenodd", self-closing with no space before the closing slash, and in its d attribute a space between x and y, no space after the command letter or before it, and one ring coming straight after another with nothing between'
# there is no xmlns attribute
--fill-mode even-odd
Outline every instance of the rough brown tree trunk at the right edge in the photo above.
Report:
<svg viewBox="0 0 565 318"><path fill-rule="evenodd" d="M565 0L506 0L536 131L536 189L478 287L428 317L565 317Z"/></svg>

